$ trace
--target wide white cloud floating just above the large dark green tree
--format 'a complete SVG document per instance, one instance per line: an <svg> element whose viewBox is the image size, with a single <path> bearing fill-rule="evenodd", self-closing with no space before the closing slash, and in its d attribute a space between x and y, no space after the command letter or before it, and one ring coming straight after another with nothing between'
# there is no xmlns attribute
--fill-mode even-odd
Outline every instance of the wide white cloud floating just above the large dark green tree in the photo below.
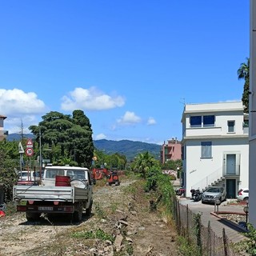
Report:
<svg viewBox="0 0 256 256"><path fill-rule="evenodd" d="M125 104L122 96L110 96L97 90L96 87L84 89L81 87L70 91L62 97L62 110L110 110Z"/></svg>

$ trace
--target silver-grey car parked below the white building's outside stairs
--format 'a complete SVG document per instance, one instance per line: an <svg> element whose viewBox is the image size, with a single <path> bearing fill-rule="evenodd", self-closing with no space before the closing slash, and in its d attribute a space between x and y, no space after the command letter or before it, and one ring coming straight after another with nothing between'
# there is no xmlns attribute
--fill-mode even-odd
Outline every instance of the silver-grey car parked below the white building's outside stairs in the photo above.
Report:
<svg viewBox="0 0 256 256"><path fill-rule="evenodd" d="M222 186L210 186L202 193L202 203L216 202L221 204L226 200L226 189Z"/></svg>

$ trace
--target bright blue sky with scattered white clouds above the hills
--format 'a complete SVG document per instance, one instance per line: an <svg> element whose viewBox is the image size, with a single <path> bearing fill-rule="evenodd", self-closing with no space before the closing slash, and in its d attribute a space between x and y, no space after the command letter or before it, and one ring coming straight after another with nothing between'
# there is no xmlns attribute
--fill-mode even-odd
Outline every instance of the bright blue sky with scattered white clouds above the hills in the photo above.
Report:
<svg viewBox="0 0 256 256"><path fill-rule="evenodd" d="M184 103L242 98L249 0L2 1L0 24L9 133L83 110L94 139L162 144Z"/></svg>

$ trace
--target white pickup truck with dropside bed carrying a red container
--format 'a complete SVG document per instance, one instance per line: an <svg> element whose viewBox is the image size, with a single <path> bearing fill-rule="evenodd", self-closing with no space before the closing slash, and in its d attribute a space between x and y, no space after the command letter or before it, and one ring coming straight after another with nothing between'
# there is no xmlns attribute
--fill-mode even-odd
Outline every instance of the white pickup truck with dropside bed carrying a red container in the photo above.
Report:
<svg viewBox="0 0 256 256"><path fill-rule="evenodd" d="M84 210L87 216L91 213L92 194L90 170L74 166L46 166L38 186L13 188L17 211L26 212L28 221L36 221L44 213L70 214L81 222Z"/></svg>

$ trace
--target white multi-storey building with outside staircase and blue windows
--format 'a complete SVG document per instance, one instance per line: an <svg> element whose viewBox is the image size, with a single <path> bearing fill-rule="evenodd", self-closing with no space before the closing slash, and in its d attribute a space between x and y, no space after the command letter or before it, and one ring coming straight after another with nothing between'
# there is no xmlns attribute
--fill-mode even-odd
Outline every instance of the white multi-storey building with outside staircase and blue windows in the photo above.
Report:
<svg viewBox="0 0 256 256"><path fill-rule="evenodd" d="M224 186L236 198L249 185L248 114L242 102L186 104L182 114L182 185Z"/></svg>

